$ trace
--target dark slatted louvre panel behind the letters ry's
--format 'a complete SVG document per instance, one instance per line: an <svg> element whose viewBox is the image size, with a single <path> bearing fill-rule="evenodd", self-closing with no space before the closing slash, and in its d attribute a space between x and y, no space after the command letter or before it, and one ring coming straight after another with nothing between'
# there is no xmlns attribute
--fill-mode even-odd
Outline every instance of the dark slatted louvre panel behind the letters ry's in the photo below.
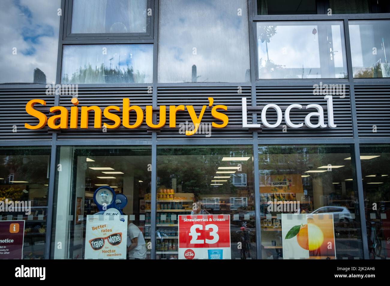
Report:
<svg viewBox="0 0 390 286"><path fill-rule="evenodd" d="M242 111L241 98L246 97L248 106L252 105L251 87L242 86L241 93L235 86L218 86L218 87L159 87L157 89L158 105L167 106L167 123L157 133L157 139L252 139L252 132L242 128ZM227 111L221 111L229 118L229 123L224 128L211 127L211 136L206 137L206 134L194 134L187 136L180 134L180 124L192 123L190 114L187 109L176 113L176 128L169 128L169 105L193 105L197 116L203 105L207 105L206 111L200 123L217 124L222 123L220 120L211 116L211 108L208 107L208 98L214 98L213 106L226 105ZM248 114L248 123L252 123L252 116ZM208 136L208 135L207 135Z"/></svg>

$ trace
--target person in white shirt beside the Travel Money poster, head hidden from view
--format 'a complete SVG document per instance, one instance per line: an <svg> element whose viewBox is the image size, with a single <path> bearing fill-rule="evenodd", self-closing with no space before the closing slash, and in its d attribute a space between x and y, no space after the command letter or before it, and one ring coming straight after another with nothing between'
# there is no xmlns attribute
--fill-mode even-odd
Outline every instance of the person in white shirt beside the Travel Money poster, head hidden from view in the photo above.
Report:
<svg viewBox="0 0 390 286"><path fill-rule="evenodd" d="M128 259L146 258L144 235L134 223L129 223L127 227L127 254Z"/></svg>

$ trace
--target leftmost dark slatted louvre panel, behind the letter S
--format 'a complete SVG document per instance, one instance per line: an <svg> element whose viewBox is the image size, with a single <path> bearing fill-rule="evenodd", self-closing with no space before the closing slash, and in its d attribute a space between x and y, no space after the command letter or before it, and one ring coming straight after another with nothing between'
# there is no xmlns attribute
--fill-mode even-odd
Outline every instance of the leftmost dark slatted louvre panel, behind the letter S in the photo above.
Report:
<svg viewBox="0 0 390 286"><path fill-rule="evenodd" d="M54 96L46 95L46 89L0 89L0 140L37 141L51 140L52 135L46 129L30 130L25 123L37 125L39 120L26 112L29 100L39 98L46 106L53 106ZM43 105L35 105L36 107ZM49 109L42 111L50 116ZM16 125L16 132L12 132Z"/></svg>

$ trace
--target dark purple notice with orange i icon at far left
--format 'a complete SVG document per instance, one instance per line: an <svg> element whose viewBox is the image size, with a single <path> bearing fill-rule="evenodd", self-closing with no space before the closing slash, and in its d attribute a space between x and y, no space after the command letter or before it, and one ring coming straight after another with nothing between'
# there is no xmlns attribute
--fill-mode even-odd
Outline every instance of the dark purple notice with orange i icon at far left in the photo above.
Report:
<svg viewBox="0 0 390 286"><path fill-rule="evenodd" d="M0 221L0 259L23 258L24 221Z"/></svg>

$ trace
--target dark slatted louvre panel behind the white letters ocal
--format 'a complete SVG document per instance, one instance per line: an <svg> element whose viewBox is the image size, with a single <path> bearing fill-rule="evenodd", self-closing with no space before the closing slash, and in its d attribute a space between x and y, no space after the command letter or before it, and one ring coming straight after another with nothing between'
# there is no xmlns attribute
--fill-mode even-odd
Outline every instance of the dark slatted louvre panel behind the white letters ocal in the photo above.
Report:
<svg viewBox="0 0 390 286"><path fill-rule="evenodd" d="M349 86L345 87L345 98L340 98L339 95L333 95L333 115L336 128L315 128L311 129L303 125L301 128L289 128L287 132L283 132L284 111L288 105L301 104L306 106L308 104L319 104L324 109L325 123L327 124L328 111L325 95L314 95L312 86L281 86L256 87L256 101L257 106L264 106L266 104L277 104L282 109L283 119L282 123L277 128L266 128L262 125L262 132L258 133L259 139L269 138L352 138L352 117L351 117L351 101L349 97ZM305 116L315 109L293 109L290 112L290 119L293 123L304 122ZM258 123L261 123L260 113L257 116ZM315 119L316 117L313 117ZM277 120L277 113L274 109L268 109L267 119L269 123L275 123ZM317 123L318 121L312 121Z"/></svg>

